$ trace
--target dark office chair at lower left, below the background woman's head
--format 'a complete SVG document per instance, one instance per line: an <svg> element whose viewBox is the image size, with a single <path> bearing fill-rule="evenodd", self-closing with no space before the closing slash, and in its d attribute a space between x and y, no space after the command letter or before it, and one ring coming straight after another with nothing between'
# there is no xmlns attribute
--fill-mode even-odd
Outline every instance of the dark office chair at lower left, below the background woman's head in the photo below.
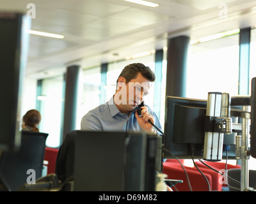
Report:
<svg viewBox="0 0 256 204"><path fill-rule="evenodd" d="M30 173L35 170L35 179L42 177L47 133L22 131L19 150L3 152L0 157L1 190L17 191L27 182Z"/></svg>

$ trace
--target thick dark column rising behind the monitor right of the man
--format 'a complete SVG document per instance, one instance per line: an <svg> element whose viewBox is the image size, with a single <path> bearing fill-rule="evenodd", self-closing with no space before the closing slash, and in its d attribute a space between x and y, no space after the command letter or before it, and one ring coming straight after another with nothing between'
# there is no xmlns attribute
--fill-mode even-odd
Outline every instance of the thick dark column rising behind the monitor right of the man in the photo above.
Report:
<svg viewBox="0 0 256 204"><path fill-rule="evenodd" d="M179 36L168 40L166 96L186 96L188 47L188 36Z"/></svg>

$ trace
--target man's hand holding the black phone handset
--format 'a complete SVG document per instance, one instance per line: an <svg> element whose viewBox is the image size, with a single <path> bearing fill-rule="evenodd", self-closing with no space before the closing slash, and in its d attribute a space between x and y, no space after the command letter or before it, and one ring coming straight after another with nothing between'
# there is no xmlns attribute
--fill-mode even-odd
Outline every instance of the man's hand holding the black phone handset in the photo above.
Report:
<svg viewBox="0 0 256 204"><path fill-rule="evenodd" d="M147 106L142 106L141 108L142 108L141 117L138 115L137 110L135 112L135 117L138 121L138 124L143 130L148 131L149 133L153 133L154 132L153 126L148 122L148 120L150 120L153 124L155 124L155 119L153 115L150 115L150 113L148 113Z"/></svg>

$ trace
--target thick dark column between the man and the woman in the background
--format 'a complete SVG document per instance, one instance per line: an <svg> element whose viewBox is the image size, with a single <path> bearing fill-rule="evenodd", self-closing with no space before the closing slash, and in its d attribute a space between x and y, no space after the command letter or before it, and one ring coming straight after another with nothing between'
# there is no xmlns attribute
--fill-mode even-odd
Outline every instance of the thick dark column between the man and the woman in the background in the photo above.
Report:
<svg viewBox="0 0 256 204"><path fill-rule="evenodd" d="M76 128L78 78L79 66L69 66L66 73L63 138L60 138L60 140L64 140L65 135ZM61 140L60 143L62 143L63 140Z"/></svg>

